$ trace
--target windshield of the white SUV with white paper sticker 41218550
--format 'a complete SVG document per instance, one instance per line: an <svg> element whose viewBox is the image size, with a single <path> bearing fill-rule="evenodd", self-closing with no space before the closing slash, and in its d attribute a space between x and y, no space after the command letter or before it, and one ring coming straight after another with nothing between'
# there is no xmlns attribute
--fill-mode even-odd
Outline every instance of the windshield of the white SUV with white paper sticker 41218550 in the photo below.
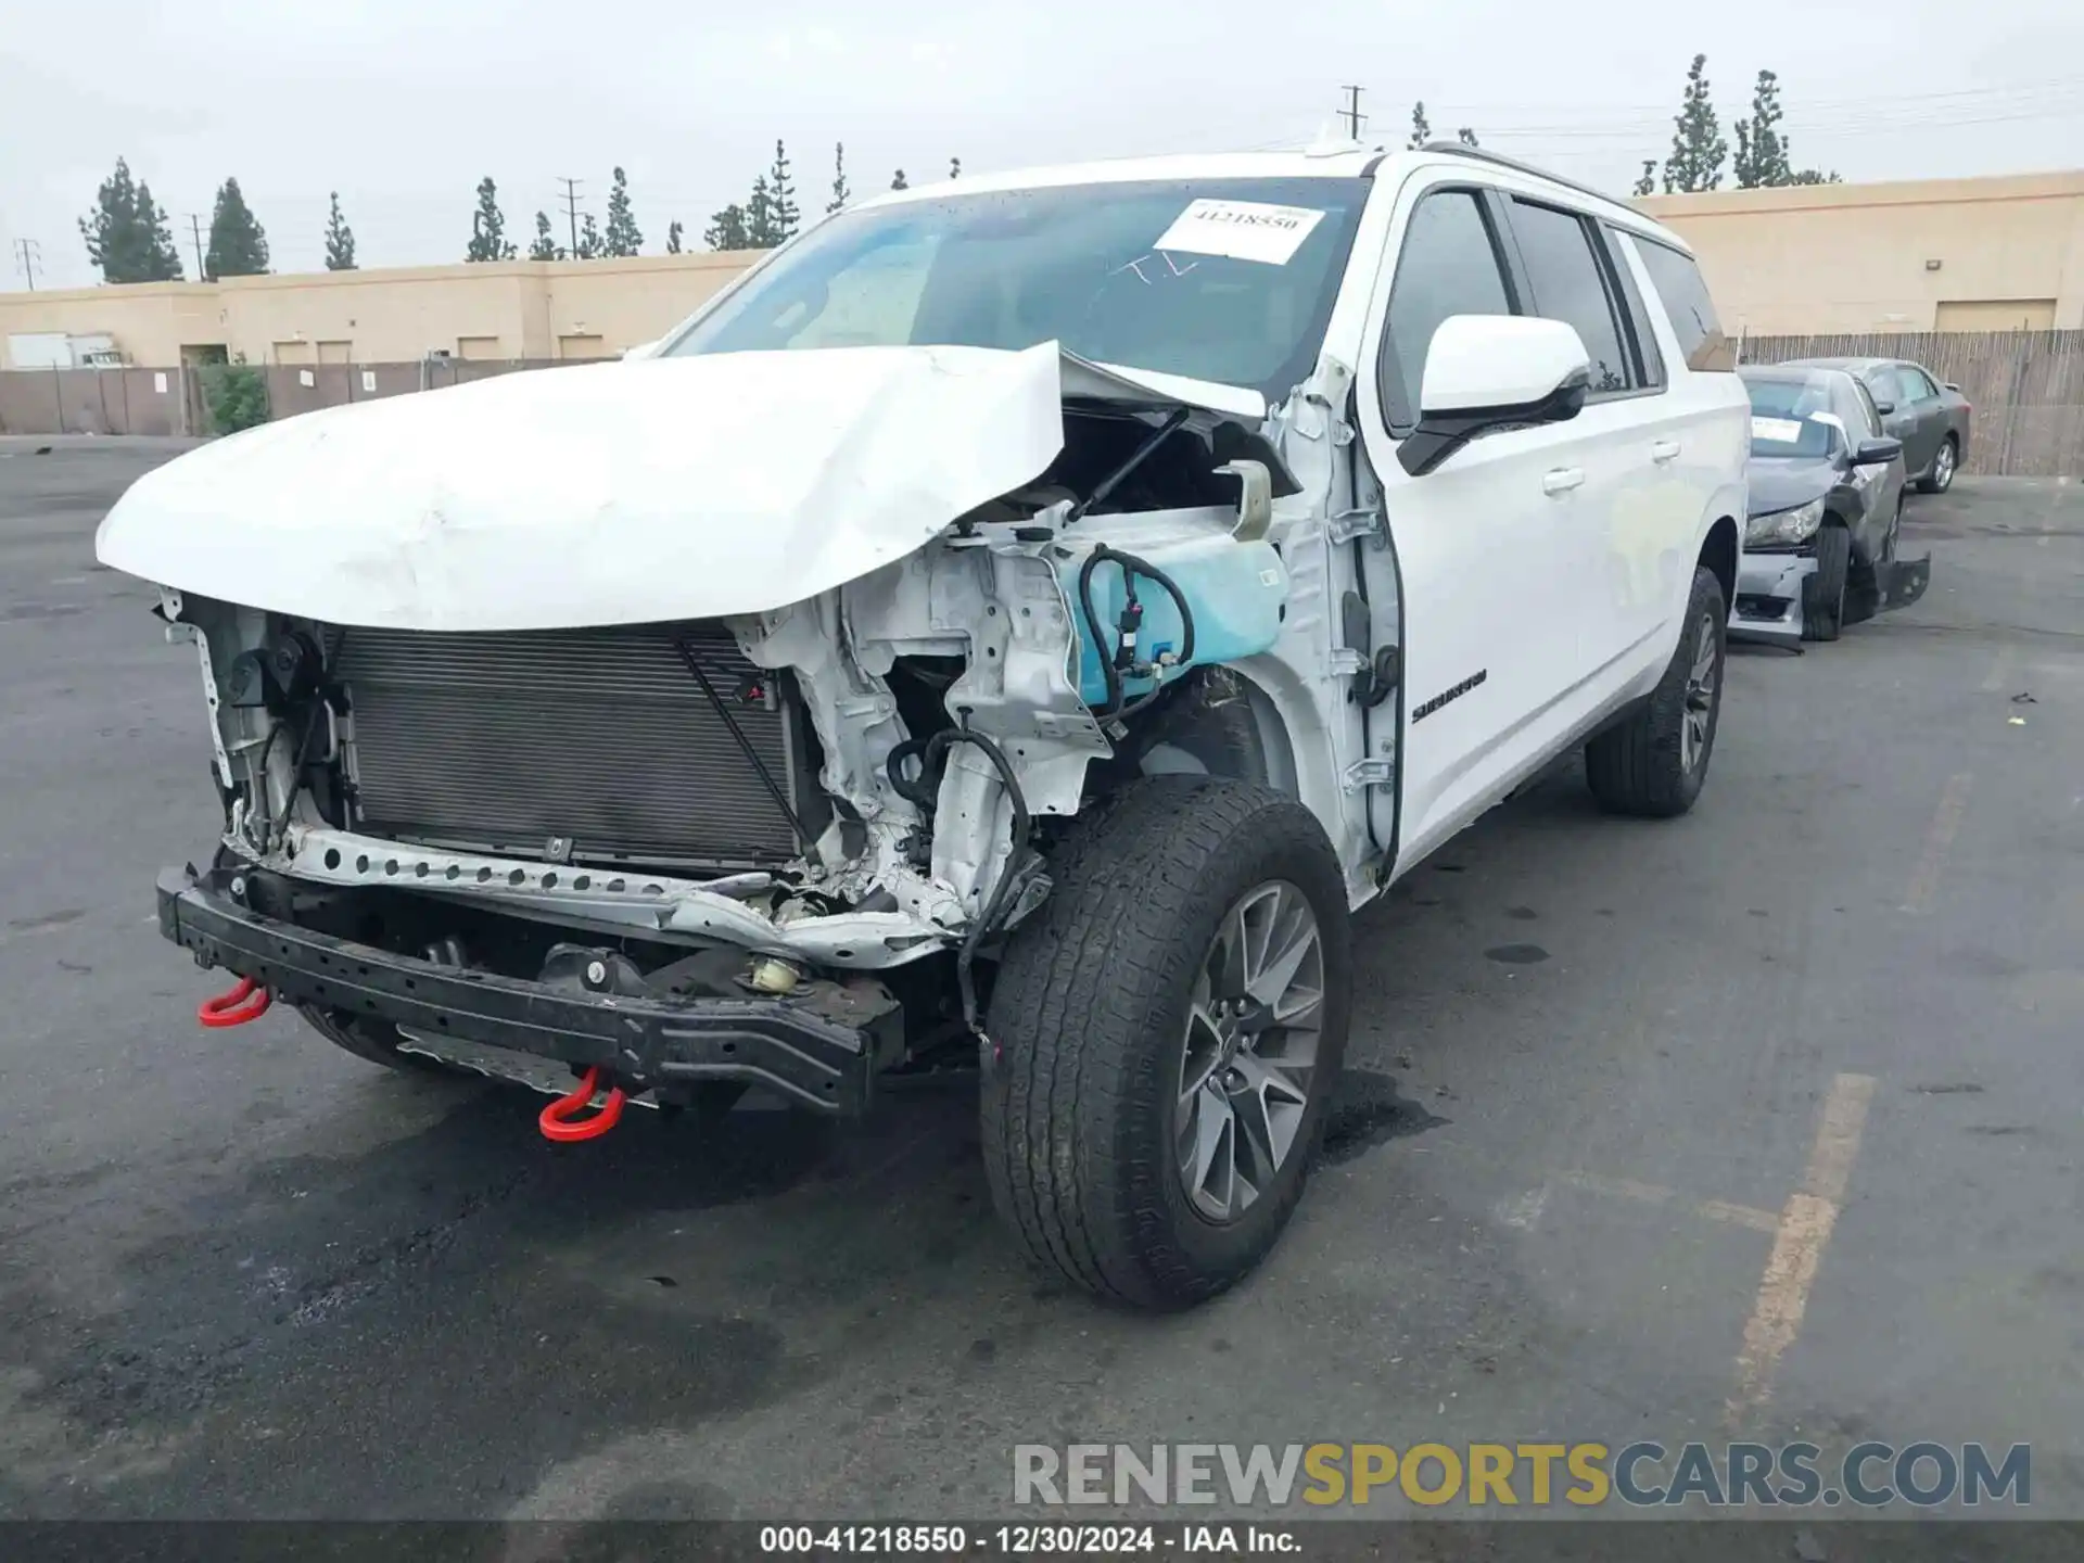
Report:
<svg viewBox="0 0 2084 1563"><path fill-rule="evenodd" d="M663 356L1061 342L1282 400L1317 361L1365 179L1167 179L842 213Z"/></svg>

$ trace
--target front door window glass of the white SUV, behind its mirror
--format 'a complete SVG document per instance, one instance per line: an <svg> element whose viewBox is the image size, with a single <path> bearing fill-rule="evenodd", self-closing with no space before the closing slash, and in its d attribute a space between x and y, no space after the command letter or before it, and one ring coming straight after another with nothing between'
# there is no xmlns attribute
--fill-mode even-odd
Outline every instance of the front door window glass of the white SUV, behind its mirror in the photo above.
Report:
<svg viewBox="0 0 2084 1563"><path fill-rule="evenodd" d="M1382 344L1382 404L1392 429L1419 421L1425 348L1448 315L1513 315L1505 267L1490 235L1482 196L1436 190L1405 225L1405 246L1390 283L1390 319Z"/></svg>

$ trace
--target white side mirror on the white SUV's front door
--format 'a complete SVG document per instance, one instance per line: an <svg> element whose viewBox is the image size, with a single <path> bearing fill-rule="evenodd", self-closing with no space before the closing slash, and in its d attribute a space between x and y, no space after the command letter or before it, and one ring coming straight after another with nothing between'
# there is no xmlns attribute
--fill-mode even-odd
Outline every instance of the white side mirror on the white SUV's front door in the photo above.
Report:
<svg viewBox="0 0 2084 1563"><path fill-rule="evenodd" d="M1578 417L1592 354L1578 327L1532 315L1448 315L1425 348L1419 425L1396 446L1421 477L1494 429Z"/></svg>

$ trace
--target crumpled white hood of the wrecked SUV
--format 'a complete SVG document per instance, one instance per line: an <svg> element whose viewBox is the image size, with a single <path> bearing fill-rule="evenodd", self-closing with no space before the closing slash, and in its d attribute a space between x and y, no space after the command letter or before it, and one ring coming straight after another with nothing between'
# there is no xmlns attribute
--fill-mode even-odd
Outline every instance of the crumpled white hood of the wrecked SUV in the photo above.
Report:
<svg viewBox="0 0 2084 1563"><path fill-rule="evenodd" d="M217 440L140 477L94 552L344 625L709 619L902 559L1061 446L1055 344L542 369Z"/></svg>

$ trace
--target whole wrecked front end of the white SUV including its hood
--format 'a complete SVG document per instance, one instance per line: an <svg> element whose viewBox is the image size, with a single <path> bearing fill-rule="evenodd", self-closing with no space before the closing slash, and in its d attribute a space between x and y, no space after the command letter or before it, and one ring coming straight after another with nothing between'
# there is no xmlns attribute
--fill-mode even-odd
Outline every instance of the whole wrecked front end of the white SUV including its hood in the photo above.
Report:
<svg viewBox="0 0 2084 1563"><path fill-rule="evenodd" d="M859 1113L973 1046L1038 834L1275 646L1294 483L1263 406L1055 348L617 365L644 396L575 450L590 373L269 425L110 513L104 563L198 648L225 813L160 929L433 1057ZM807 463L773 429L815 398Z"/></svg>

